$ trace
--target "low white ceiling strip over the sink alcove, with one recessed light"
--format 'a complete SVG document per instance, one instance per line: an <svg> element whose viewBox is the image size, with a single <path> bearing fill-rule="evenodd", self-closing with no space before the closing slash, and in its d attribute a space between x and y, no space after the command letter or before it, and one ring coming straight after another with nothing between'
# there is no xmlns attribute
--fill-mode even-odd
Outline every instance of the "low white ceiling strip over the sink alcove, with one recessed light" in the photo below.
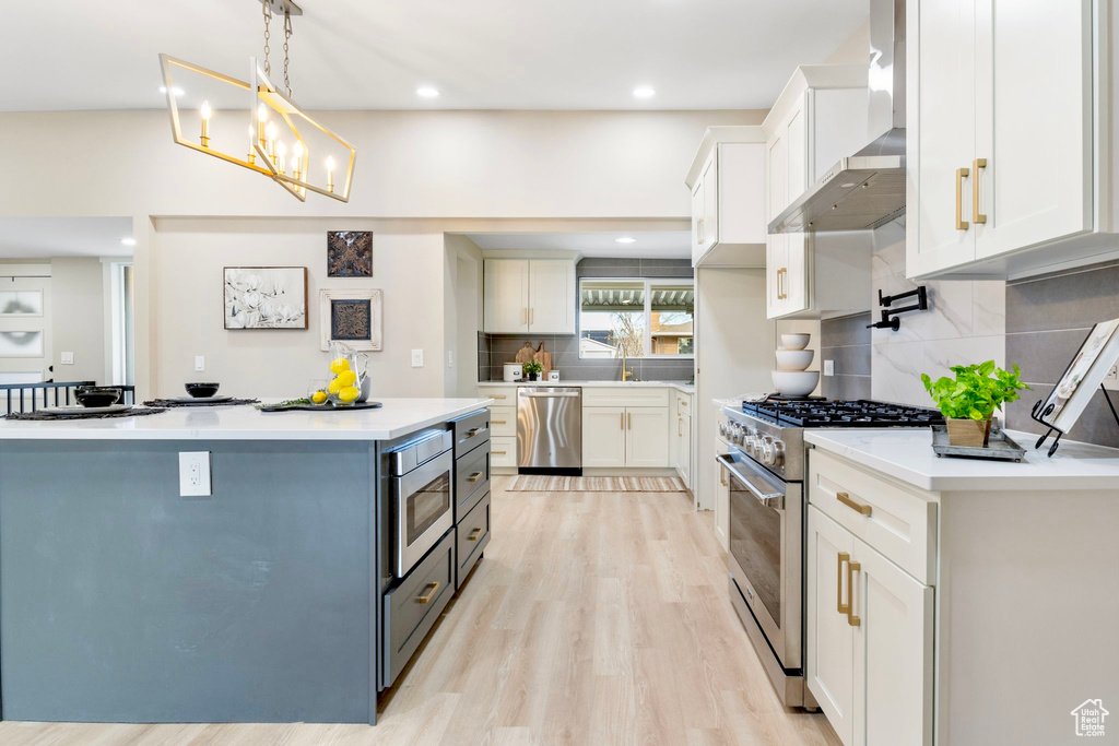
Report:
<svg viewBox="0 0 1119 746"><path fill-rule="evenodd" d="M617 238L636 238L619 244ZM688 258L692 234L687 230L602 232L602 233L471 233L470 240L485 249L575 251L583 256L610 256L642 259Z"/></svg>

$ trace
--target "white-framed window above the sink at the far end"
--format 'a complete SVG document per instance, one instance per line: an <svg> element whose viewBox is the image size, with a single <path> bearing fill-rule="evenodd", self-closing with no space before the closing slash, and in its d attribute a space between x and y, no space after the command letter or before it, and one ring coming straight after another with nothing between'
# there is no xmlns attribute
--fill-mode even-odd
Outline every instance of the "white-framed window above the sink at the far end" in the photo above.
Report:
<svg viewBox="0 0 1119 746"><path fill-rule="evenodd" d="M695 353L692 280L582 280L579 357L685 357Z"/></svg>

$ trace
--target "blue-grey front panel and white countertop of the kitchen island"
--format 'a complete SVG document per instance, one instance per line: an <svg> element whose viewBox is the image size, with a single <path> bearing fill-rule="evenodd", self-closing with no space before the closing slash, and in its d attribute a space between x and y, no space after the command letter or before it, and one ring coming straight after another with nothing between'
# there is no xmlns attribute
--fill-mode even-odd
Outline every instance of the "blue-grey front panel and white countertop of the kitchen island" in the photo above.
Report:
<svg viewBox="0 0 1119 746"><path fill-rule="evenodd" d="M374 723L380 450L489 403L0 422L3 718Z"/></svg>

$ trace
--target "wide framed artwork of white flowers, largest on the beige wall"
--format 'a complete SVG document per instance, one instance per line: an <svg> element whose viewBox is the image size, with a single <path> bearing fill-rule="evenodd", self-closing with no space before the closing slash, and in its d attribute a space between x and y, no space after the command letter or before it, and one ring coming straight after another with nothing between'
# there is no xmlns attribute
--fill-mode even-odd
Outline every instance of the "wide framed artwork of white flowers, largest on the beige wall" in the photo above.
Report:
<svg viewBox="0 0 1119 746"><path fill-rule="evenodd" d="M307 329L307 267L225 267L226 329Z"/></svg>

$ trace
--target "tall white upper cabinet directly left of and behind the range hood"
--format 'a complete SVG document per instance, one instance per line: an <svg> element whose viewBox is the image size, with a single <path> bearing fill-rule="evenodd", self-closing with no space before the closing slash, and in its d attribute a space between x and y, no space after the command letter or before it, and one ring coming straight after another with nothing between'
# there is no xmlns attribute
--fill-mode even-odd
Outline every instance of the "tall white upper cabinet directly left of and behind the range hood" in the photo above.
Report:
<svg viewBox="0 0 1119 746"><path fill-rule="evenodd" d="M866 144L866 77L862 65L797 68L762 124L767 229L828 169ZM836 242L826 236L841 237ZM868 308L873 253L868 233L770 234L765 251L768 318ZM839 274L831 274L833 268ZM828 282L815 283L814 274L827 276Z"/></svg>

